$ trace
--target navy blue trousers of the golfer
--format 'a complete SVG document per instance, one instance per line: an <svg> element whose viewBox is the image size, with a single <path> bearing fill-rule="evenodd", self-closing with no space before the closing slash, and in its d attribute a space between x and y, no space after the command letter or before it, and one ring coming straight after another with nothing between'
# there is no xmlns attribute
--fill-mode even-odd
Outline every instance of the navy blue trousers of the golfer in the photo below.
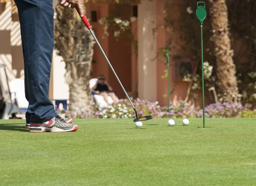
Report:
<svg viewBox="0 0 256 186"><path fill-rule="evenodd" d="M53 52L52 0L15 0L22 39L26 123L42 123L57 116L48 97Z"/></svg>

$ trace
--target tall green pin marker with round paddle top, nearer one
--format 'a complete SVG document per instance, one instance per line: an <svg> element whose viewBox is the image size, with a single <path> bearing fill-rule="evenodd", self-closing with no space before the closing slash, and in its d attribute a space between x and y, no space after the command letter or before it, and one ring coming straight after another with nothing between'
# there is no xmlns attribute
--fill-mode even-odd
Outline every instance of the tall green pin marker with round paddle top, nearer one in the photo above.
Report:
<svg viewBox="0 0 256 186"><path fill-rule="evenodd" d="M204 2L198 2L198 3L204 3ZM196 17L200 21L201 25L201 51L202 51L202 91L203 91L203 118L204 118L204 127L205 127L205 112L204 112L204 59L203 59L203 22L206 18L206 9L205 9L205 3L204 6L198 6L197 3L197 9L196 9Z"/></svg>

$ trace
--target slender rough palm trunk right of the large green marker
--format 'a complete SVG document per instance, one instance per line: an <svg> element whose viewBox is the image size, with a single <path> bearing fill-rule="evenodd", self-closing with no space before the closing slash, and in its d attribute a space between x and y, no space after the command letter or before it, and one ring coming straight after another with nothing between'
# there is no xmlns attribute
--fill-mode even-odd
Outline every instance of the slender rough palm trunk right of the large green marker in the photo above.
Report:
<svg viewBox="0 0 256 186"><path fill-rule="evenodd" d="M228 13L225 0L209 0L210 16L215 43L218 86L221 100L230 103L240 102L236 79L236 66L233 61L233 50L230 46L230 31L228 28Z"/></svg>

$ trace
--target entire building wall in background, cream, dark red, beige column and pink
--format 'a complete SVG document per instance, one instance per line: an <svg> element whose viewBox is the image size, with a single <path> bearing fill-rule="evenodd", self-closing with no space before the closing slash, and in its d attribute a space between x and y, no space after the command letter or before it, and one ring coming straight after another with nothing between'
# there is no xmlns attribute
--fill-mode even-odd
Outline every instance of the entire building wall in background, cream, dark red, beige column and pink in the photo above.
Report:
<svg viewBox="0 0 256 186"><path fill-rule="evenodd" d="M58 0L53 0L53 6L58 3ZM0 62L7 64L9 72L9 79L23 77L23 55L19 33L19 24L17 14L10 14L10 11L6 11L3 14L3 4L0 3ZM125 5L128 6L128 5ZM97 20L109 15L111 5L107 3L87 3L87 18L90 19L90 11L97 11ZM123 86L127 92L138 92L138 96L141 99L147 99L149 101L159 101L160 105L167 105L168 98L163 97L163 94L167 94L167 79L161 78L166 70L164 65L165 57L154 59L156 52L162 47L166 46L170 35L166 33L164 29L158 28L157 34L153 35L152 29L163 24L163 0L143 0L138 5L138 17L137 20L131 23L132 31L135 34L135 39L138 38L138 56L133 52L130 40L128 37L122 37L119 41L116 41L111 34L109 37L102 38L104 34L104 25L100 25L98 22L91 22L93 31L99 40L105 54L108 56L116 74L119 76ZM74 10L75 11L75 10ZM173 20L177 20L180 11L173 9ZM130 15L124 14L127 18ZM3 18L4 17L4 18ZM8 24L7 24L8 23ZM113 31L113 28L110 28ZM175 33L175 37L179 37L178 33ZM2 43L5 43L4 45ZM7 44L6 44L7 43ZM181 49L171 51L171 54L179 54ZM184 57L191 57L189 53ZM56 55L56 51L53 52L52 59L52 72L49 87L49 97L51 99L68 99L69 87L65 83L64 74L65 63L62 61L62 57ZM94 54L92 64L92 77L98 77L100 74L104 74L107 81L111 84L113 89L117 92L119 98L125 98L125 94L122 91L116 77L108 66L105 57L99 49L97 44L94 45ZM170 61L170 89L172 90L175 83L175 61ZM171 95L171 101L177 102L178 100L184 100L188 88L188 83L178 81L175 92ZM200 97L198 105L201 105Z"/></svg>

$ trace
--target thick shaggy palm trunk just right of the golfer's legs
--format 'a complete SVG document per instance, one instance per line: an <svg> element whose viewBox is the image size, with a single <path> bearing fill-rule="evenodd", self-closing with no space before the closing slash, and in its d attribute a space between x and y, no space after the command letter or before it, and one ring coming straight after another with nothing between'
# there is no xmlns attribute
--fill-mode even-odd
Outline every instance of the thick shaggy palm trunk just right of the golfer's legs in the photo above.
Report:
<svg viewBox="0 0 256 186"><path fill-rule="evenodd" d="M91 109L89 80L95 41L75 9L58 4L55 14L55 49L66 63L65 78L70 89L69 110L79 112Z"/></svg>

